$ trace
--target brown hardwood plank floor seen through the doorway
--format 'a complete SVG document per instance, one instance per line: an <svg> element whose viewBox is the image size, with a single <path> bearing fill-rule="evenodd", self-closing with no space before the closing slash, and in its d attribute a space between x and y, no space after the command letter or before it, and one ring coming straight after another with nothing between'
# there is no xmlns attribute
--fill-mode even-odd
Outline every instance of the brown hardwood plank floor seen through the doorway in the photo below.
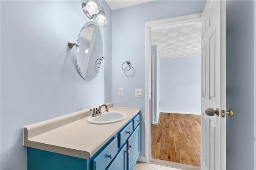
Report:
<svg viewBox="0 0 256 170"><path fill-rule="evenodd" d="M201 115L160 113L151 125L152 158L200 166Z"/></svg>

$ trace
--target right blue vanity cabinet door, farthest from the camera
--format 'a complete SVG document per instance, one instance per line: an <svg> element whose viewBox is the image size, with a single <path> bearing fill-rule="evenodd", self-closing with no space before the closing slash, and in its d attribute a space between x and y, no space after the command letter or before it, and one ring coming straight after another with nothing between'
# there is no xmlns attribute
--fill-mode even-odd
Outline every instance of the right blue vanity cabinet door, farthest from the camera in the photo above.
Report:
<svg viewBox="0 0 256 170"><path fill-rule="evenodd" d="M128 170L134 169L138 156L140 155L140 125L134 130L127 140L128 152Z"/></svg>

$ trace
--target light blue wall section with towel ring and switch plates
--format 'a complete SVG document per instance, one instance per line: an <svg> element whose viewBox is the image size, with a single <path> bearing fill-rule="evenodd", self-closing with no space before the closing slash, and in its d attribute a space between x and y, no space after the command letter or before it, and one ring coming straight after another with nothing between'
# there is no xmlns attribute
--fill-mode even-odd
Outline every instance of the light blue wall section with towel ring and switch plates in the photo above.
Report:
<svg viewBox="0 0 256 170"><path fill-rule="evenodd" d="M141 156L145 156L145 98L135 98L134 89L145 87L145 22L200 13L205 4L158 0L112 11L112 101L115 106L141 108ZM121 68L127 60L135 69L131 78ZM124 96L118 96L118 88L124 89Z"/></svg>

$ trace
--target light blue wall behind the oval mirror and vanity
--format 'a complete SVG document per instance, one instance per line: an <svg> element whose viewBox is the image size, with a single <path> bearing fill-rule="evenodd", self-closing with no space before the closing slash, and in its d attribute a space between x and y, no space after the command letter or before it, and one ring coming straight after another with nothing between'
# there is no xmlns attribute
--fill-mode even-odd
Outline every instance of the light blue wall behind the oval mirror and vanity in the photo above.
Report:
<svg viewBox="0 0 256 170"><path fill-rule="evenodd" d="M89 21L82 2L0 2L2 170L27 168L22 127L111 102L112 23L105 1L98 1L108 19L102 27L105 60L93 81L82 79L76 48L67 45Z"/></svg>

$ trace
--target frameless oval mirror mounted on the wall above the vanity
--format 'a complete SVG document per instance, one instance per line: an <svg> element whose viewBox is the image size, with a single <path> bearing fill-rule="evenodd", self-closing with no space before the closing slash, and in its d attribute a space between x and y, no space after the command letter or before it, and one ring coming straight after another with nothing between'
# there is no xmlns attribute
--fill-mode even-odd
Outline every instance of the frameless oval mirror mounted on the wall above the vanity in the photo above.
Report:
<svg viewBox="0 0 256 170"><path fill-rule="evenodd" d="M76 47L76 63L84 80L93 80L100 71L103 55L103 40L100 28L94 22L82 27Z"/></svg>

